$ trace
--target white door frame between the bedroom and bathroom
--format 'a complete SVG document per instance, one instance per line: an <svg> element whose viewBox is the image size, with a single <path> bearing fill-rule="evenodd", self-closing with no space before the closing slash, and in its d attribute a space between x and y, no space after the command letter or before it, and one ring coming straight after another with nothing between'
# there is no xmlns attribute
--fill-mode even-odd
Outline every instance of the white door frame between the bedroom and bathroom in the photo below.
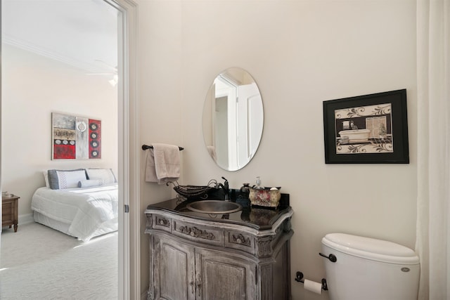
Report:
<svg viewBox="0 0 450 300"><path fill-rule="evenodd" d="M119 11L118 98L119 240L118 299L141 298L139 247L139 115L137 100L137 5L103 0ZM126 207L128 209L126 209ZM134 246L134 247L133 247Z"/></svg>

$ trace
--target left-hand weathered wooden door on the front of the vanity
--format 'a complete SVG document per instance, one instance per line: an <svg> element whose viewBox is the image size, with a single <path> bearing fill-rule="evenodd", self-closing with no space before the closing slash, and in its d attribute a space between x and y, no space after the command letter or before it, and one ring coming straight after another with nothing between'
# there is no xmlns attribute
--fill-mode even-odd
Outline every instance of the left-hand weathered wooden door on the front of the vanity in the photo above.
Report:
<svg viewBox="0 0 450 300"><path fill-rule="evenodd" d="M153 238L153 299L195 299L194 247L158 235Z"/></svg>

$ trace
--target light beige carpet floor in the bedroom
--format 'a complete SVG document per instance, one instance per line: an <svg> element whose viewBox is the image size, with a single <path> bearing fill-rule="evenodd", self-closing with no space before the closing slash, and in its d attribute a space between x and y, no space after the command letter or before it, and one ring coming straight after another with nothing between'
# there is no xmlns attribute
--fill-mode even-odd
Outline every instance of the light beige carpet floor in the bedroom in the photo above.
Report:
<svg viewBox="0 0 450 300"><path fill-rule="evenodd" d="M4 228L0 299L117 299L117 232L82 242L39 223Z"/></svg>

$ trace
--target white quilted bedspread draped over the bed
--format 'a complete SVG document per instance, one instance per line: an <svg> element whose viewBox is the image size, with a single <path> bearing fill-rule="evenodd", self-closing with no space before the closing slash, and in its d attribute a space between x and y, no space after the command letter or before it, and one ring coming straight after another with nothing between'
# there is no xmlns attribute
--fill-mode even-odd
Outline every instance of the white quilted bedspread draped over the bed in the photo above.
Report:
<svg viewBox="0 0 450 300"><path fill-rule="evenodd" d="M44 187L34 192L31 208L35 213L67 224L65 233L87 242L98 234L117 230L117 201L117 183L63 190ZM42 218L34 220L44 223ZM51 223L44 225L54 228Z"/></svg>

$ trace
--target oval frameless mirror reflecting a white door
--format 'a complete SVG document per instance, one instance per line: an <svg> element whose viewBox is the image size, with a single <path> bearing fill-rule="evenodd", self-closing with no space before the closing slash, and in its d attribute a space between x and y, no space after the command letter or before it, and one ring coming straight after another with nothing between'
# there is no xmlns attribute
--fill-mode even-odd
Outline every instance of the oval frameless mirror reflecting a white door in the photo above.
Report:
<svg viewBox="0 0 450 300"><path fill-rule="evenodd" d="M245 167L261 141L264 111L252 76L234 67L212 83L203 107L203 137L214 162L228 171Z"/></svg>

